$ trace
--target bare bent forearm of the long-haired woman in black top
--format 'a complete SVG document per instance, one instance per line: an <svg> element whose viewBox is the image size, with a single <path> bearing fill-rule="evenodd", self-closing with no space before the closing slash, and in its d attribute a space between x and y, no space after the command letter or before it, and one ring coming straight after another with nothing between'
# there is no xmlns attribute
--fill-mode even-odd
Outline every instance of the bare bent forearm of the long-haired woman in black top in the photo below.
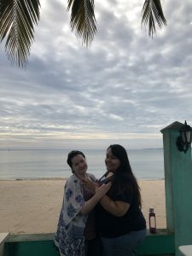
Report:
<svg viewBox="0 0 192 256"><path fill-rule="evenodd" d="M124 216L130 208L129 203L125 201L113 201L108 195L104 195L100 203L107 212L117 217Z"/></svg>

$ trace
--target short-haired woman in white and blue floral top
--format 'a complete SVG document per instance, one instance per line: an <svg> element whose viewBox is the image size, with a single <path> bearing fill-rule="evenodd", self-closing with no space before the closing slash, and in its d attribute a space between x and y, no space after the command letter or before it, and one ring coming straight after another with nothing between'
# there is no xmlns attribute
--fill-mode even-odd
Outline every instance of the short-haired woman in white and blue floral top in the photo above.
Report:
<svg viewBox="0 0 192 256"><path fill-rule="evenodd" d="M67 164L73 175L67 178L65 184L55 245L61 256L98 256L99 241L96 237L93 210L108 192L111 183L96 186L94 192L88 189L84 180L95 182L96 178L87 173L87 162L81 151L70 152Z"/></svg>

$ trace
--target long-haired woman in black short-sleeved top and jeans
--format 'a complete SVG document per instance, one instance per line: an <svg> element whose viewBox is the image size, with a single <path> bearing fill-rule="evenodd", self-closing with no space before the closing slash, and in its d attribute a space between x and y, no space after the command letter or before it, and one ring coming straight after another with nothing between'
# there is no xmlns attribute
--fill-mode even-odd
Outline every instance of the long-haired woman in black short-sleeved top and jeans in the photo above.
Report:
<svg viewBox="0 0 192 256"><path fill-rule="evenodd" d="M105 164L108 174L101 183L112 182L111 189L96 207L96 228L102 238L103 256L136 255L146 235L141 211L141 194L131 171L125 148L108 147Z"/></svg>

